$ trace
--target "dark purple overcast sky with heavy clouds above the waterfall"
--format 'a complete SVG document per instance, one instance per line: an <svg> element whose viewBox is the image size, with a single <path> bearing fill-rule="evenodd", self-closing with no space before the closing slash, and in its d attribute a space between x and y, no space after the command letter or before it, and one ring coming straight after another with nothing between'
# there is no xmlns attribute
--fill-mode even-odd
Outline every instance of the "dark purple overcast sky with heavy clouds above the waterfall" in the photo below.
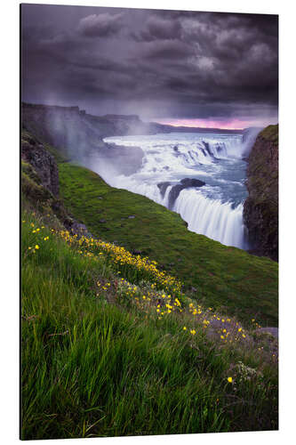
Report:
<svg viewBox="0 0 296 445"><path fill-rule="evenodd" d="M277 122L276 15L22 4L22 100L175 125Z"/></svg>

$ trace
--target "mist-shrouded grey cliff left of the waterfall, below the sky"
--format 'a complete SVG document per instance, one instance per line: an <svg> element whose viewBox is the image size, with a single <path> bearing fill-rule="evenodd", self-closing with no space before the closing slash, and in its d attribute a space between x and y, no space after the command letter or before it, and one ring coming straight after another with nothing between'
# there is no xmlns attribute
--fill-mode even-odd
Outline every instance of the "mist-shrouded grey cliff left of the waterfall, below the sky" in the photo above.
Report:
<svg viewBox="0 0 296 445"><path fill-rule="evenodd" d="M140 131L145 124L137 116L95 117L78 107L27 103L22 104L21 111L23 127L41 142L60 150L68 160L92 169L95 164L99 170L107 169L116 174L132 174L141 166L143 151L140 148L103 142L107 136Z"/></svg>

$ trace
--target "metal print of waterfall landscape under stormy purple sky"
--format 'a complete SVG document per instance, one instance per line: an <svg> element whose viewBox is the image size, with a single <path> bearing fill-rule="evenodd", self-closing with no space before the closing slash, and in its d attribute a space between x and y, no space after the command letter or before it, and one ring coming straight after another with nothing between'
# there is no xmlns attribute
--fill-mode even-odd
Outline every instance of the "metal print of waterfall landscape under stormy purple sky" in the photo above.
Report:
<svg viewBox="0 0 296 445"><path fill-rule="evenodd" d="M21 5L21 439L278 428L277 21Z"/></svg>

